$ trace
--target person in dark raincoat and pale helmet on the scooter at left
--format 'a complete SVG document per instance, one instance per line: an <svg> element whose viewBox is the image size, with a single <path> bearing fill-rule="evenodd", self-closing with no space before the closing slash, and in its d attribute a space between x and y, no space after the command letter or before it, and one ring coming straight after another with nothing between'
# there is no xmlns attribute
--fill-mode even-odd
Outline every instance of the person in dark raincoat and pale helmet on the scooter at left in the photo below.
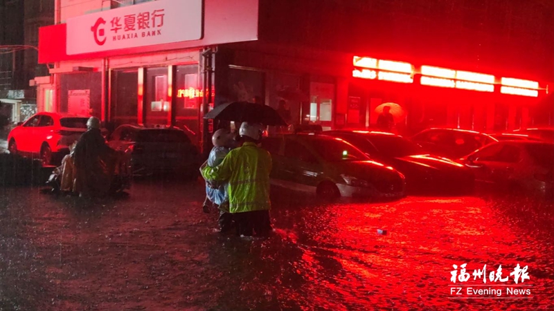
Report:
<svg viewBox="0 0 554 311"><path fill-rule="evenodd" d="M75 144L74 162L76 187L80 196L105 196L109 190L111 174L108 173L107 159L114 154L100 132L100 120L90 117L87 131Z"/></svg>

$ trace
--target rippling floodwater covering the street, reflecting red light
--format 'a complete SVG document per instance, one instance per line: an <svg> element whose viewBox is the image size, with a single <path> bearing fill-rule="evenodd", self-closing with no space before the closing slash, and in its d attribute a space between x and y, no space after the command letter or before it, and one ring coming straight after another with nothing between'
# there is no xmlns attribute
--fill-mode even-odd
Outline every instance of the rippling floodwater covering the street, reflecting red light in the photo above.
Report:
<svg viewBox="0 0 554 311"><path fill-rule="evenodd" d="M468 196L323 204L276 192L274 236L244 241L215 232L199 182L139 182L128 197L98 202L35 187L0 191L0 310L554 305L554 213L546 202ZM452 299L452 265L463 263L470 274L502 265L504 276L528 265L532 295Z"/></svg>

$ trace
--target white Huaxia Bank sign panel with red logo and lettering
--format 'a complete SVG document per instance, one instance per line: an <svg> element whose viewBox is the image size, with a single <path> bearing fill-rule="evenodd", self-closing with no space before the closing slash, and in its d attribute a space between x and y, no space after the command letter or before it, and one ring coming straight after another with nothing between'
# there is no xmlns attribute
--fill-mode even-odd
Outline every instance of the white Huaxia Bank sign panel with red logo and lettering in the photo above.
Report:
<svg viewBox="0 0 554 311"><path fill-rule="evenodd" d="M67 54L202 39L202 0L159 0L67 20Z"/></svg>

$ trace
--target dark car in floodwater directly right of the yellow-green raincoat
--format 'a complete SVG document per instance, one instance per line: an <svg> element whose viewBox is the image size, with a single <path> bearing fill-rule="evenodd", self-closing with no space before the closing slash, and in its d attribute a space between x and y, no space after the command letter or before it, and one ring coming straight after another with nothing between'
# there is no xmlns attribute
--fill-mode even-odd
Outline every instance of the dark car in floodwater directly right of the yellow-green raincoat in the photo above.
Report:
<svg viewBox="0 0 554 311"><path fill-rule="evenodd" d="M402 173L370 160L340 138L299 133L265 138L262 147L273 158L271 185L311 192L327 200L404 196Z"/></svg>

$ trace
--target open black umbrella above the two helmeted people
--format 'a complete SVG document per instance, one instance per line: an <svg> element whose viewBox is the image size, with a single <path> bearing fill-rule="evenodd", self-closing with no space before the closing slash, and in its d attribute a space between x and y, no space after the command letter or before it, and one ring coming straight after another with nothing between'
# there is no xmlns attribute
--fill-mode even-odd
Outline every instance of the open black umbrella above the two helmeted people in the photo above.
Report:
<svg viewBox="0 0 554 311"><path fill-rule="evenodd" d="M287 125L287 122L279 113L262 104L253 104L251 102L230 102L215 107L212 111L204 115L204 119L261 123L264 125Z"/></svg>

